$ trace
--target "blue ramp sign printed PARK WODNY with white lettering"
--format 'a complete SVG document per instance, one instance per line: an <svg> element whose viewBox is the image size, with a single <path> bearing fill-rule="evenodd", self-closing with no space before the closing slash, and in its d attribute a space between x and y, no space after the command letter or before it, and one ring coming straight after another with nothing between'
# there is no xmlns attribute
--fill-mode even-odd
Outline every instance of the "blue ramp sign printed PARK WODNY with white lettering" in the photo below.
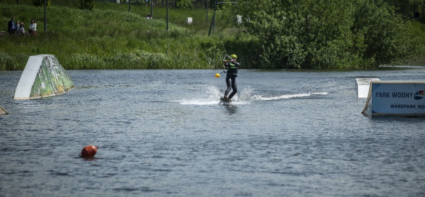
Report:
<svg viewBox="0 0 425 197"><path fill-rule="evenodd" d="M425 82L372 81L363 114L425 116Z"/></svg>

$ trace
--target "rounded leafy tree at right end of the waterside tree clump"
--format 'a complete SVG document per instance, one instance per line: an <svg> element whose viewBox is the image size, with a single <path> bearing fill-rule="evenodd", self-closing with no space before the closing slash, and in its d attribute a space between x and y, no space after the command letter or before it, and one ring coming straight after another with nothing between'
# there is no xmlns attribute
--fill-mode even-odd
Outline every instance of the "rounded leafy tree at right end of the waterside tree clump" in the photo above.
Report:
<svg viewBox="0 0 425 197"><path fill-rule="evenodd" d="M393 7L377 0L357 0L352 31L363 37L364 59L373 59L376 64L415 55L419 38L415 37L409 20L404 20Z"/></svg>

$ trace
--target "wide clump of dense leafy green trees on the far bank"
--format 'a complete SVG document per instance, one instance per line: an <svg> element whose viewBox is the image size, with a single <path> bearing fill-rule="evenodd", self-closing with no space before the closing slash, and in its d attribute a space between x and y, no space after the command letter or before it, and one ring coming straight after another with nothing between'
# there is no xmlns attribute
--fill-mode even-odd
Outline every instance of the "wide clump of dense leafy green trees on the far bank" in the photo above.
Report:
<svg viewBox="0 0 425 197"><path fill-rule="evenodd" d="M412 55L409 25L382 0L239 0L267 68L365 67Z"/></svg>

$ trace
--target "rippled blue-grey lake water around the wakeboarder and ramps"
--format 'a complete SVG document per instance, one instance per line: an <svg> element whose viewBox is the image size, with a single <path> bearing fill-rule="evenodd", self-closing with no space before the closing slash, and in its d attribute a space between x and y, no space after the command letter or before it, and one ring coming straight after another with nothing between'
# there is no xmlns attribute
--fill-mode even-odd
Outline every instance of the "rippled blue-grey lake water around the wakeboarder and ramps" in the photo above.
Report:
<svg viewBox="0 0 425 197"><path fill-rule="evenodd" d="M0 71L0 197L425 196L425 118L367 118L355 89L425 67L242 69L230 105L217 72L68 70L68 93L13 100Z"/></svg>

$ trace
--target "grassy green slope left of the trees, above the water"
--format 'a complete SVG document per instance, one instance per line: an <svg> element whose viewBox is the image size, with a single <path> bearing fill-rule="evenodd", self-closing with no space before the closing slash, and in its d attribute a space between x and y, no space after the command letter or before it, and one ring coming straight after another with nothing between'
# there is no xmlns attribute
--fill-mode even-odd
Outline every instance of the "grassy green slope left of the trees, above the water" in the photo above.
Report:
<svg viewBox="0 0 425 197"><path fill-rule="evenodd" d="M221 68L224 48L238 54L241 62L255 62L254 38L237 28L221 28L211 37L205 15L193 16L202 25L177 25L166 20L145 19L146 6L99 3L118 9L80 10L65 6L48 7L47 32L44 33L43 7L1 3L0 23L10 16L25 21L37 20L38 36L12 36L0 39L0 70L21 70L30 55L54 54L65 69L185 69ZM99 6L101 7L101 6ZM150 10L150 8L149 8ZM158 17L164 8L156 8ZM170 10L170 20L183 23L184 15L199 10ZM143 14L142 14L143 13ZM205 13L206 14L206 13ZM165 14L164 14L165 15ZM202 18L201 18L202 17ZM179 19L180 18L180 19ZM219 23L219 20L217 21ZM5 26L5 25L4 25ZM196 26L196 27L193 27ZM200 28L200 29L196 29ZM5 28L2 30L6 30ZM245 64L245 67L248 65Z"/></svg>

